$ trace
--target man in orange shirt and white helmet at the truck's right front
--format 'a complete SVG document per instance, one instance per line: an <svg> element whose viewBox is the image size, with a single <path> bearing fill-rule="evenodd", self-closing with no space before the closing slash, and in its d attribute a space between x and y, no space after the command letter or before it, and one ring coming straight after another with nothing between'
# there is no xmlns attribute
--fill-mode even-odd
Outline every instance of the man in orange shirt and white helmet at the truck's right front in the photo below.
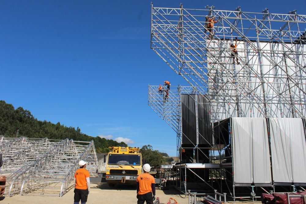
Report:
<svg viewBox="0 0 306 204"><path fill-rule="evenodd" d="M155 200L155 179L149 174L151 166L149 164L144 164L144 173L137 177L137 204L153 204ZM153 195L152 195L153 194Z"/></svg>

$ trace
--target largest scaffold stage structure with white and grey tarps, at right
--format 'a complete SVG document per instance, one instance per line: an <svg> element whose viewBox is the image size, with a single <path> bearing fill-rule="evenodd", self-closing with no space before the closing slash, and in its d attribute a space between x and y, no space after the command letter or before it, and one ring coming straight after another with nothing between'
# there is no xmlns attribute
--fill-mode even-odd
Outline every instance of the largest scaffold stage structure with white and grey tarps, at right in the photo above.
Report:
<svg viewBox="0 0 306 204"><path fill-rule="evenodd" d="M300 175L296 169L288 169L286 175L277 172L287 165L295 164L300 169L306 164L303 156L288 156L289 150L297 148L299 155L305 155L306 15L299 15L296 10L276 14L269 9L254 13L244 12L240 7L226 11L214 6L185 9L183 5L157 8L152 4L151 16L151 49L192 86L191 90L205 98L209 104L211 151L218 150L219 162L232 163L232 172L237 173L234 176L225 168L211 170L210 180L217 177L232 180L233 190L230 184L226 188L233 198L237 186L252 188L252 197L254 186L263 190L267 186L273 189L278 185L292 185L293 189L305 186L304 176L297 179ZM211 30L206 17L217 20ZM233 52L230 45L236 42L237 52ZM180 97L178 93L178 101ZM165 110L163 106L159 110ZM182 114L182 105L178 109ZM180 114L177 112L175 116ZM167 114L159 112L165 121L169 118ZM286 124L284 118L290 122ZM170 121L168 124L173 125L174 120ZM174 129L183 138L180 127L183 123L177 121L178 128ZM256 131L260 132L259 137L255 136ZM286 139L275 139L273 133L279 132ZM248 136L242 138L242 133ZM240 143L243 140L249 151ZM287 143L282 146L284 141ZM301 146L295 141L300 141ZM287 148L278 154L279 147ZM237 156L241 154L243 164ZM214 163L214 159L210 162ZM258 162L264 167L261 171ZM241 171L245 166L249 166L248 174ZM219 189L222 188L223 184L219 184Z"/></svg>

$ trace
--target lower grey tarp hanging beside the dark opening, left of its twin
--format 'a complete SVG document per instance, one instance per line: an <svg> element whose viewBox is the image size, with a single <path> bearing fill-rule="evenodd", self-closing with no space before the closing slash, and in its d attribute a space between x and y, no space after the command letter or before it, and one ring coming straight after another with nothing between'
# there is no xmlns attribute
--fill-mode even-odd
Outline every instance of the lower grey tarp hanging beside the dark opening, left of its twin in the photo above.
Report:
<svg viewBox="0 0 306 204"><path fill-rule="evenodd" d="M233 117L234 183L271 185L266 118Z"/></svg>

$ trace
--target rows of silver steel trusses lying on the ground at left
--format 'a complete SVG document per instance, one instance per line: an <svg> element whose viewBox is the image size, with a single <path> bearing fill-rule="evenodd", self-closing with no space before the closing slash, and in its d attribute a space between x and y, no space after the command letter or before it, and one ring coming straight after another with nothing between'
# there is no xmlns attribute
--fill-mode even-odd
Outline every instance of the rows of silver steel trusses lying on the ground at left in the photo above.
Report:
<svg viewBox="0 0 306 204"><path fill-rule="evenodd" d="M77 163L87 161L91 176L99 171L93 141L0 137L6 193L62 196L71 187Z"/></svg>

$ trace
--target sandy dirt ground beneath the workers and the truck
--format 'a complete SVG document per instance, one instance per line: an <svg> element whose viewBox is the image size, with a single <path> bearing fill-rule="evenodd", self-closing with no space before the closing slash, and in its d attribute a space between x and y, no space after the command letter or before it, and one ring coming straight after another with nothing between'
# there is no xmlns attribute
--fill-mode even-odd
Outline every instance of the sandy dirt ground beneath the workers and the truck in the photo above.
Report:
<svg viewBox="0 0 306 204"><path fill-rule="evenodd" d="M62 198L50 196L28 196L14 195L13 197L0 198L0 204L15 204L15 203L35 203L35 204L62 204L73 203L73 189L68 191ZM156 189L156 197L160 198L161 203L167 203L169 198L174 198L179 204L188 203L188 196L179 195L176 190L162 191ZM242 201L243 203L253 203ZM116 185L109 187L108 184L91 184L90 193L88 195L87 204L132 204L137 203L136 187L126 185ZM171 202L173 203L173 201ZM236 203L241 203L238 201ZM261 203L261 202L256 202Z"/></svg>

